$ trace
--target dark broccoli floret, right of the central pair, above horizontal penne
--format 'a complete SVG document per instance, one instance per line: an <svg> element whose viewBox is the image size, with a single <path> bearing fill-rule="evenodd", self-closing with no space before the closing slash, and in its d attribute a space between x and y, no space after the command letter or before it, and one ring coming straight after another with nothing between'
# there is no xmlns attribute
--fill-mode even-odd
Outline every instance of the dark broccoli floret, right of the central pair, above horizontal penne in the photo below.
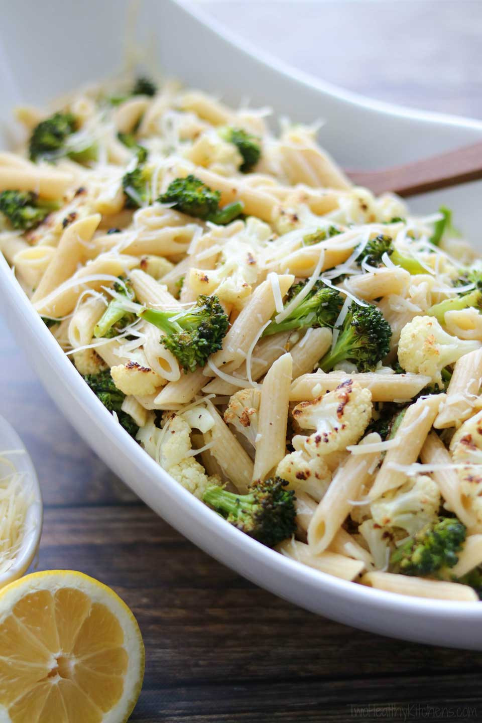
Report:
<svg viewBox="0 0 482 723"><path fill-rule="evenodd" d="M334 348L319 362L324 372L335 364L351 361L359 372L370 372L390 351L392 328L376 307L352 301Z"/></svg>

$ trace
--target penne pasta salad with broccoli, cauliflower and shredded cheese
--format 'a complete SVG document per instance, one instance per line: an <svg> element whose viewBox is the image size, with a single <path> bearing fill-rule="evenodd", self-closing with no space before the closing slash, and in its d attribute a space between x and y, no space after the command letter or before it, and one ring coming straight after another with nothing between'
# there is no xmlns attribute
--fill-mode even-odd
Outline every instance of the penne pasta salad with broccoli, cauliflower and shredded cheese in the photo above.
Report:
<svg viewBox="0 0 482 723"><path fill-rule="evenodd" d="M283 555L477 600L482 262L449 210L175 82L15 112L0 250L126 432Z"/></svg>

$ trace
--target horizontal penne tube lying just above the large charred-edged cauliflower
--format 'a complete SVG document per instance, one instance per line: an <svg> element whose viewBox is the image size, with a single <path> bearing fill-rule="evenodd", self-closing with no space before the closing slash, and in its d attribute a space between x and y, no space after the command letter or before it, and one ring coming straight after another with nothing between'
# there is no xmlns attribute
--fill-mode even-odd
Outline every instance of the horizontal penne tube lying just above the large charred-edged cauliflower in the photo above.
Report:
<svg viewBox="0 0 482 723"><path fill-rule="evenodd" d="M325 392L332 392L341 382L353 379L354 382L371 391L374 402L408 401L430 383L430 377L421 374L348 374L347 372L318 371L304 374L291 385L290 401L311 401Z"/></svg>

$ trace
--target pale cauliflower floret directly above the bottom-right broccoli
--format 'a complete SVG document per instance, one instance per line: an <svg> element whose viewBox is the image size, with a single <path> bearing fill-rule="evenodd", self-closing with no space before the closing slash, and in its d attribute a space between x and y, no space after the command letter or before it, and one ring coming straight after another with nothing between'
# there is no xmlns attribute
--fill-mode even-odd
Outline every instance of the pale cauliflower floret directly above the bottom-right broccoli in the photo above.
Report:
<svg viewBox="0 0 482 723"><path fill-rule="evenodd" d="M370 511L380 527L400 527L413 535L436 517L440 502L439 487L431 477L420 474L372 502Z"/></svg>

